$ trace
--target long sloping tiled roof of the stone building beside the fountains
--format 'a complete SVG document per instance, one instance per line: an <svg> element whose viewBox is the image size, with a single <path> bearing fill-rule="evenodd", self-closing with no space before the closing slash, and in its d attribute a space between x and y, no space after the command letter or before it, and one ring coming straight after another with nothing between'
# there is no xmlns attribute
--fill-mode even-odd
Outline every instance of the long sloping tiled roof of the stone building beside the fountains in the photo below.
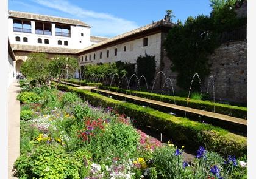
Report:
<svg viewBox="0 0 256 179"><path fill-rule="evenodd" d="M143 27L140 27L138 29L135 29L135 30L123 33L121 35L115 36L113 38L107 39L105 41L99 42L98 44L93 44L92 46L85 47L84 49L80 49L77 53L84 52L85 50L90 50L90 49L93 49L95 47L103 46L103 45L108 44L110 42L114 42L114 41L117 41L119 39L127 38L131 35L135 35L136 33L141 33L141 32L144 32L146 30L149 30L149 29L154 29L154 28L160 27L160 26L173 27L174 25L175 24L173 24L171 22L160 20L160 21L154 22L152 24L148 24L148 25L145 25Z"/></svg>

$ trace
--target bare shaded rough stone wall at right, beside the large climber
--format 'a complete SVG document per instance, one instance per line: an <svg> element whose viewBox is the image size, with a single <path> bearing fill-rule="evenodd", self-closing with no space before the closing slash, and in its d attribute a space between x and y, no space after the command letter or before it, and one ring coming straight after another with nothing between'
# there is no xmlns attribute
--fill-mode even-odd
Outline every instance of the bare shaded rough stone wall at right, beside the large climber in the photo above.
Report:
<svg viewBox="0 0 256 179"><path fill-rule="evenodd" d="M247 103L247 41L221 44L210 55L210 75L214 76L215 98L220 101ZM207 90L210 76L205 79ZM212 95L212 81L210 81Z"/></svg>

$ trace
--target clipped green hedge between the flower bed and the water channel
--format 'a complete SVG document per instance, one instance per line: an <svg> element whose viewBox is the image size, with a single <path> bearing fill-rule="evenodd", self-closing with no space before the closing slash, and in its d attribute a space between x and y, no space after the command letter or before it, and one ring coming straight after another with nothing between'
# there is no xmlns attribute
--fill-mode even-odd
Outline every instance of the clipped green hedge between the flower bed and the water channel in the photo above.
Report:
<svg viewBox="0 0 256 179"><path fill-rule="evenodd" d="M76 92L93 106L113 107L119 113L135 118L136 123L159 129L162 133L172 137L177 143L184 146L188 145L194 150L199 145L203 145L208 150L225 156L226 154L236 155L236 157L247 155L247 137L230 133L220 127L191 121L187 118L175 117L149 107L114 100L88 90L76 89L62 84L58 85L57 88L68 92Z"/></svg>

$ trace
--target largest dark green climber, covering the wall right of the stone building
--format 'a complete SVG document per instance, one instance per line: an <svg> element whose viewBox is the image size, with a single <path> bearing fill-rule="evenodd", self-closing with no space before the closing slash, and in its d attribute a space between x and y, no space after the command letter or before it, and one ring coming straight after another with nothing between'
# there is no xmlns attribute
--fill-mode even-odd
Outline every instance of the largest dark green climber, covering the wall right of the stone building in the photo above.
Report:
<svg viewBox="0 0 256 179"><path fill-rule="evenodd" d="M213 29L212 19L199 15L197 18L189 17L183 25L169 30L165 41L166 52L173 63L171 70L178 72L177 85L183 89L190 88L194 73L198 73L202 80L210 73L207 55L218 46ZM193 89L199 90L196 80Z"/></svg>

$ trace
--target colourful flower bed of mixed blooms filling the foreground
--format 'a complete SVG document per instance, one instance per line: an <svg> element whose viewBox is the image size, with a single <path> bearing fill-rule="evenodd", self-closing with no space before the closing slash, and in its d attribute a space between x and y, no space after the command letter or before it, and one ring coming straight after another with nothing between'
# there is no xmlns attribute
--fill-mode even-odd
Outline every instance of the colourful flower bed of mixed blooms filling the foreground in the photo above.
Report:
<svg viewBox="0 0 256 179"><path fill-rule="evenodd" d="M59 86L66 87L66 86ZM71 90L71 89L69 89ZM19 178L241 178L246 158L222 158L203 147L185 161L183 148L160 143L112 107L93 107L74 93L34 89L34 113L20 121ZM241 164L240 164L241 163Z"/></svg>

